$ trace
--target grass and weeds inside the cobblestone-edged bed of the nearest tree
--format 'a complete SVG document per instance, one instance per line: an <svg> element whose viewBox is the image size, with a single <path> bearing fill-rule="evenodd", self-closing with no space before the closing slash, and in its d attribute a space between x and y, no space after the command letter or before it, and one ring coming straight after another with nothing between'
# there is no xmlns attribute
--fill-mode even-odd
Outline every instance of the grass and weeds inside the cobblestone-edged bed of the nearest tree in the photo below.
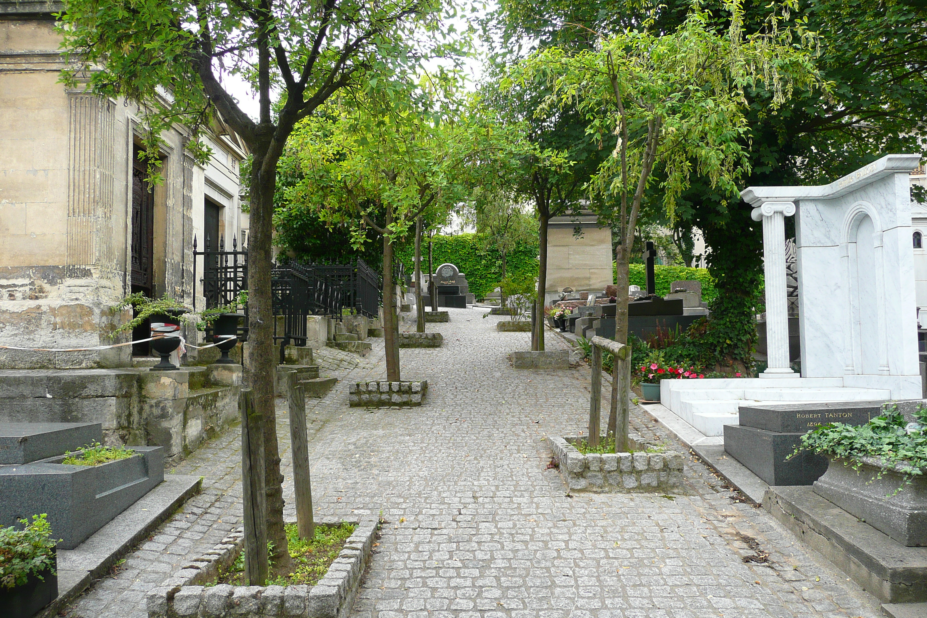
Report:
<svg viewBox="0 0 927 618"><path fill-rule="evenodd" d="M315 538L301 540L296 523L286 524L286 540L289 545L290 558L293 559L293 573L275 574L265 586L315 586L328 572L328 567L338 557L348 537L354 533L353 523L337 526L318 525ZM273 565L271 566L273 572ZM242 551L228 570L221 571L219 578L206 586L231 584L248 586L245 580L245 552Z"/></svg>

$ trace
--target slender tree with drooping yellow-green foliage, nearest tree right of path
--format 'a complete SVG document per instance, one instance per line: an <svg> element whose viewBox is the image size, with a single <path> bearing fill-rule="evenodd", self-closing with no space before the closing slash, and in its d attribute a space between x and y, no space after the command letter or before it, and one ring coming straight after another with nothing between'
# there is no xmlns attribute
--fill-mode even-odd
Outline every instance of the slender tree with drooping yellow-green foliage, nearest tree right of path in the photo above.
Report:
<svg viewBox="0 0 927 618"><path fill-rule="evenodd" d="M641 203L660 165L667 217L693 172L724 195L738 195L738 180L749 170L741 139L747 131L744 90L765 84L775 113L797 85L810 88L817 72L810 54L789 44L791 32L769 16L768 32L744 36L739 2L727 5L730 21L718 32L693 4L675 32L625 31L594 50L568 54L551 47L520 70L529 79L542 74L553 84L548 107L578 106L595 140L617 134L618 144L588 185L600 217L613 222L616 247L616 341L628 341L630 250ZM610 420L610 430L614 423Z"/></svg>

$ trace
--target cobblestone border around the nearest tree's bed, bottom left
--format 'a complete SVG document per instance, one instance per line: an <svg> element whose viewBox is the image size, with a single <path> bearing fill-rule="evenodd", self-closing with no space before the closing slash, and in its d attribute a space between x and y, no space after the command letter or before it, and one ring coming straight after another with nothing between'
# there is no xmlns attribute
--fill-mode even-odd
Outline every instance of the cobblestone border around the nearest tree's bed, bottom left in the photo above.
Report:
<svg viewBox="0 0 927 618"><path fill-rule="evenodd" d="M241 533L235 531L196 564L150 590L145 599L148 618L343 618L357 596L379 525L375 520L354 523L354 533L315 586L198 586L215 577L220 565L235 561L242 546Z"/></svg>

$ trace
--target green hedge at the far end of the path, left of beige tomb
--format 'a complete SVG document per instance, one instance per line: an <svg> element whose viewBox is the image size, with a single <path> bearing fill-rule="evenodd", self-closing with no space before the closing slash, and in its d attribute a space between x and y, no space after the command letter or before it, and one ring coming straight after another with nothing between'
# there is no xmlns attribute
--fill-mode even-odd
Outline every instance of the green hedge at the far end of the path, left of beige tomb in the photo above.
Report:
<svg viewBox="0 0 927 618"><path fill-rule="evenodd" d="M415 247L412 242L397 247L396 257L405 264L408 271L414 268ZM432 248L432 260L437 269L450 262L466 275L470 293L476 298L486 296L502 281L502 254L498 249L484 248L475 233L460 233L452 236L436 234ZM428 270L428 246L422 241L422 271ZM506 274L513 279L538 276L538 243L516 246L505 257Z"/></svg>

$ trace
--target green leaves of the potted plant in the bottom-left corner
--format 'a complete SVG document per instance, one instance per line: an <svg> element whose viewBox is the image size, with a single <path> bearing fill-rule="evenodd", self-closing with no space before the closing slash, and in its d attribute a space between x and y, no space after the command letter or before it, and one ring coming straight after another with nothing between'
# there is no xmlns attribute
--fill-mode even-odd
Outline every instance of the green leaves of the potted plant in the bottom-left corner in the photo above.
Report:
<svg viewBox="0 0 927 618"><path fill-rule="evenodd" d="M22 530L16 527L0 528L0 586L13 588L23 586L34 574L40 575L45 569L55 573L55 546L61 539L51 538L52 526L45 519L45 513L20 519Z"/></svg>

